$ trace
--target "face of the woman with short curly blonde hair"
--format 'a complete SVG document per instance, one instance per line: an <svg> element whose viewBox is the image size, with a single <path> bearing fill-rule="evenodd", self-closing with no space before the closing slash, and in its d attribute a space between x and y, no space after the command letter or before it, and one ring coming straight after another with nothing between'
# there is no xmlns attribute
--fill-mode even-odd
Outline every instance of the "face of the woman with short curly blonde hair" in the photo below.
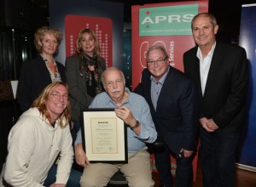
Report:
<svg viewBox="0 0 256 187"><path fill-rule="evenodd" d="M58 42L53 34L45 33L42 41L38 41L38 44L42 47L44 56L52 56L56 52Z"/></svg>

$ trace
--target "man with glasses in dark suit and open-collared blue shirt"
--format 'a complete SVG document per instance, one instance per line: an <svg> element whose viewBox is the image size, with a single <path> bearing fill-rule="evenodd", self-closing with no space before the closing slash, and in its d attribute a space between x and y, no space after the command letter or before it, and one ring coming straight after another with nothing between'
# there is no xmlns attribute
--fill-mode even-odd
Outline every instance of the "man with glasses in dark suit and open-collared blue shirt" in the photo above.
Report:
<svg viewBox="0 0 256 187"><path fill-rule="evenodd" d="M164 152L155 153L155 164L164 186L173 186L170 153L183 158L177 161L176 187L192 186L192 154L198 134L198 102L193 82L169 65L163 46L152 46L146 54L148 68L135 89L147 100L158 139Z"/></svg>

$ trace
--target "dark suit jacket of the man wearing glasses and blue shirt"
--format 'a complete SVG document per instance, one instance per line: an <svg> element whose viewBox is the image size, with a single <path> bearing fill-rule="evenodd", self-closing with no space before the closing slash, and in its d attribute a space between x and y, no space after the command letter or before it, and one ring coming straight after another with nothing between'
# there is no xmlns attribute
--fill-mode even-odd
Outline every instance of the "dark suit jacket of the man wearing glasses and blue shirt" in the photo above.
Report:
<svg viewBox="0 0 256 187"><path fill-rule="evenodd" d="M175 153L181 148L194 150L198 134L198 100L193 82L170 66L160 91L156 111L152 104L148 69L134 92L143 95L150 107L158 134Z"/></svg>

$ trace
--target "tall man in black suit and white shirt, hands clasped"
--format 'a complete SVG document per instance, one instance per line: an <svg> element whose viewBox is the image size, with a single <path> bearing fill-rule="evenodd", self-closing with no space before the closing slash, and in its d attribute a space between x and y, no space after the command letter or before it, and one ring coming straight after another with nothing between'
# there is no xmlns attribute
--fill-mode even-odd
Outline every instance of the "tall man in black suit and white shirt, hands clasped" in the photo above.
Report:
<svg viewBox="0 0 256 187"><path fill-rule="evenodd" d="M183 55L183 63L201 101L203 185L234 187L235 150L246 113L247 54L244 48L216 42L212 14L196 15L191 28L197 46Z"/></svg>

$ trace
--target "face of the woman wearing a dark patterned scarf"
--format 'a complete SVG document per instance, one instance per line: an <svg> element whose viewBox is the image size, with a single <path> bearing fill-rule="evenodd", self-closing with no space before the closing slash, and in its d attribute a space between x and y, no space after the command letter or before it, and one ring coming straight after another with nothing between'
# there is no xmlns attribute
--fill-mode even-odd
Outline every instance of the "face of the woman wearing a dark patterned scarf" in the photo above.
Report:
<svg viewBox="0 0 256 187"><path fill-rule="evenodd" d="M96 40L91 36L90 33L84 32L80 41L80 46L85 54L92 56L96 48Z"/></svg>

